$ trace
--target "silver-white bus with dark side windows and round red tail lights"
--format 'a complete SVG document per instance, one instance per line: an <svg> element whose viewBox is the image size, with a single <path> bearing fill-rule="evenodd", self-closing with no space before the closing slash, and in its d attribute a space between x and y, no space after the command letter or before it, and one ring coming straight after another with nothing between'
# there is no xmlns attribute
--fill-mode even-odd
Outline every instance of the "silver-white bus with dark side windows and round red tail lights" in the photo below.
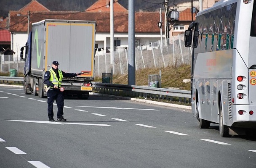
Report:
<svg viewBox="0 0 256 168"><path fill-rule="evenodd" d="M192 30L194 29L194 33ZM192 115L222 137L256 134L256 0L221 0L185 31Z"/></svg>

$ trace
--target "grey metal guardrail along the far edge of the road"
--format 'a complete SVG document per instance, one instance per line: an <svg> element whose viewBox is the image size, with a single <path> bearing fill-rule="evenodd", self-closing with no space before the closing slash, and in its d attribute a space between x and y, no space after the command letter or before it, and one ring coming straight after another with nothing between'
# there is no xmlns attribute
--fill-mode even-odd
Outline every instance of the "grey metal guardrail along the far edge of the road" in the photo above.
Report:
<svg viewBox="0 0 256 168"><path fill-rule="evenodd" d="M0 76L0 82L5 81L24 81L23 77ZM191 103L191 95L188 90L165 89L157 87L144 87L126 84L109 84L101 82L92 82L93 90L108 95L119 95L128 97L144 97L149 99L173 100L179 98L179 102Z"/></svg>

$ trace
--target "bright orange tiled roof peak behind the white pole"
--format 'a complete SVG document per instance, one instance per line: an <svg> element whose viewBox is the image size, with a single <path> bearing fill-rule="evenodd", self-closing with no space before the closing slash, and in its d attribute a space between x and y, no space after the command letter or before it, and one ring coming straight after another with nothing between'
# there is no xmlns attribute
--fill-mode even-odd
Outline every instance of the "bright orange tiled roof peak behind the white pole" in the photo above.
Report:
<svg viewBox="0 0 256 168"><path fill-rule="evenodd" d="M114 12L126 12L127 9L120 5L117 0L113 2ZM110 0L98 0L96 3L91 5L85 11L88 12L109 12L110 11Z"/></svg>

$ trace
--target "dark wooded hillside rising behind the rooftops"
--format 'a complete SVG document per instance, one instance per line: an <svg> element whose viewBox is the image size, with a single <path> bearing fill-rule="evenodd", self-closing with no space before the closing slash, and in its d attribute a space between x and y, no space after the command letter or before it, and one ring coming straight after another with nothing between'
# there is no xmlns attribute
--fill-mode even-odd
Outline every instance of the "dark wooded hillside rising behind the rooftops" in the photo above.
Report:
<svg viewBox="0 0 256 168"><path fill-rule="evenodd" d="M9 11L18 11L31 0L0 0L0 16L8 17ZM37 0L50 11L85 11L97 0ZM118 0L118 3L128 9L129 0ZM134 0L134 11L156 11L163 8L165 0ZM168 5L175 3L191 2L190 0L169 0Z"/></svg>

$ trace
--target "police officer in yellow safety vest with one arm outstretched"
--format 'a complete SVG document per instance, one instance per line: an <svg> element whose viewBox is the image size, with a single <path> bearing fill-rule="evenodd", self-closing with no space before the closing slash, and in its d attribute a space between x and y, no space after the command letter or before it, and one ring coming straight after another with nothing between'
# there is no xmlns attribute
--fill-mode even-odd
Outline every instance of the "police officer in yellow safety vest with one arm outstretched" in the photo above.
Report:
<svg viewBox="0 0 256 168"><path fill-rule="evenodd" d="M65 73L58 69L59 62L53 61L52 68L45 72L44 84L49 87L47 92L47 103L48 103L48 117L49 121L55 121L53 119L53 102L56 100L58 113L57 120L58 121L67 121L67 119L63 118L63 107L64 107L64 97L63 92L60 91L61 81L63 77L71 78L77 76L79 73Z"/></svg>

